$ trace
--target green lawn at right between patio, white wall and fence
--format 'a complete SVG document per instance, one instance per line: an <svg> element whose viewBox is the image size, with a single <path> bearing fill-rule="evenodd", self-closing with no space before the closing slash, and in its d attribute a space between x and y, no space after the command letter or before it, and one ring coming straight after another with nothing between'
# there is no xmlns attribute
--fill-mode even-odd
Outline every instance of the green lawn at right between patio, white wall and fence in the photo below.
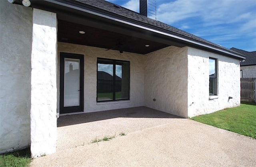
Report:
<svg viewBox="0 0 256 167"><path fill-rule="evenodd" d="M255 102L241 102L238 107L190 119L256 139Z"/></svg>

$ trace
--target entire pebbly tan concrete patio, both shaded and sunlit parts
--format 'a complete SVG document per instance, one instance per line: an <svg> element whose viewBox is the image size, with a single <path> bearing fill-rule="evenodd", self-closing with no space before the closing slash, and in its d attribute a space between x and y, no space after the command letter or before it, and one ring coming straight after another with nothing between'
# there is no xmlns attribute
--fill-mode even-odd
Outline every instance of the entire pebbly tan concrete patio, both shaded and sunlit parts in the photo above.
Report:
<svg viewBox="0 0 256 167"><path fill-rule="evenodd" d="M111 141L90 143L112 135L116 138ZM57 153L31 163L108 165L256 166L256 140L146 107L127 108L61 116Z"/></svg>

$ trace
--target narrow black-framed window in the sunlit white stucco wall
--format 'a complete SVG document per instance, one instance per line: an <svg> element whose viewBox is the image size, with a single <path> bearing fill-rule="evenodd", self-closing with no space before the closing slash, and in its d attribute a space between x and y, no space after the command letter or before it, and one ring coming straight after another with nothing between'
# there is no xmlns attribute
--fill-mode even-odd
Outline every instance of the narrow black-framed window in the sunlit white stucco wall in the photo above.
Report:
<svg viewBox="0 0 256 167"><path fill-rule="evenodd" d="M209 58L209 95L217 95L217 59Z"/></svg>

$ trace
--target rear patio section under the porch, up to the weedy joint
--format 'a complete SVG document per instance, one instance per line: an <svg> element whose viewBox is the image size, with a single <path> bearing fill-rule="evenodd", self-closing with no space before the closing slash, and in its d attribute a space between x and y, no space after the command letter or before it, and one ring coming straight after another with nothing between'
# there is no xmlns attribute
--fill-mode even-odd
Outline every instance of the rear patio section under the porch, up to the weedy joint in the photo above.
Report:
<svg viewBox="0 0 256 167"><path fill-rule="evenodd" d="M96 138L118 136L121 132L129 134L168 124L173 121L169 118L181 117L147 107L60 116L57 151L88 144Z"/></svg>

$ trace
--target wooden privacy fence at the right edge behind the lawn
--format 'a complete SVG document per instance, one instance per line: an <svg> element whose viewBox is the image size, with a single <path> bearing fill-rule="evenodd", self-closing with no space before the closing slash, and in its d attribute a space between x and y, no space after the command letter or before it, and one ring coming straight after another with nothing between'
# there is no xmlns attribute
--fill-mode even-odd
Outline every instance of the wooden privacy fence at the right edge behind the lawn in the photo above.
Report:
<svg viewBox="0 0 256 167"><path fill-rule="evenodd" d="M256 102L256 78L240 78L241 101Z"/></svg>

